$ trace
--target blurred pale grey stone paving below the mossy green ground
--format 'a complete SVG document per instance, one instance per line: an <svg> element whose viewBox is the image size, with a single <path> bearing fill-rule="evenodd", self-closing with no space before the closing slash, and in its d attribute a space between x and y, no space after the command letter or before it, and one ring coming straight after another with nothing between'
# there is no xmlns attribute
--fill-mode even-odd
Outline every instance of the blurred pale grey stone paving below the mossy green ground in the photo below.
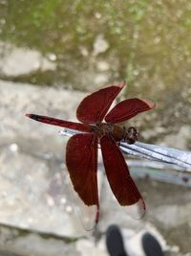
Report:
<svg viewBox="0 0 191 256"><path fill-rule="evenodd" d="M75 120L84 93L0 81L0 95L0 255L108 255L104 234L111 223L121 226L131 255L143 255L145 231L159 237L166 255L191 255L191 191L181 186L138 180L147 215L134 221L118 207L100 172L96 235L82 228L66 178L67 138L25 113Z"/></svg>

